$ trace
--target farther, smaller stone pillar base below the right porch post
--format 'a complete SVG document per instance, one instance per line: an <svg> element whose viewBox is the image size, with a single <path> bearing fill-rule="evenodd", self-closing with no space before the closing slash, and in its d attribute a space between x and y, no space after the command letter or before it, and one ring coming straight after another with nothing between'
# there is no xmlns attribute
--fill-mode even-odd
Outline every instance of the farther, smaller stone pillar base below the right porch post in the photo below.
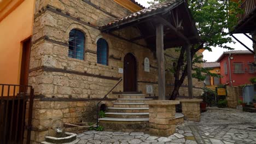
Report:
<svg viewBox="0 0 256 144"><path fill-rule="evenodd" d="M182 103L182 113L188 121L201 121L200 103L202 99L182 99L179 101Z"/></svg>

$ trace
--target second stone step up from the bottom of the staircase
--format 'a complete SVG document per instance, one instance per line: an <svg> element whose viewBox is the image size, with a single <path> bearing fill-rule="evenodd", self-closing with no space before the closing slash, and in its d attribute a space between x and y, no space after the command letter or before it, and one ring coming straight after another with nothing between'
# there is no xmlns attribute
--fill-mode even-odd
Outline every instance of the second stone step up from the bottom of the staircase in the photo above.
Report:
<svg viewBox="0 0 256 144"><path fill-rule="evenodd" d="M112 118L148 118L148 112L125 113L125 112L106 112L106 117Z"/></svg>

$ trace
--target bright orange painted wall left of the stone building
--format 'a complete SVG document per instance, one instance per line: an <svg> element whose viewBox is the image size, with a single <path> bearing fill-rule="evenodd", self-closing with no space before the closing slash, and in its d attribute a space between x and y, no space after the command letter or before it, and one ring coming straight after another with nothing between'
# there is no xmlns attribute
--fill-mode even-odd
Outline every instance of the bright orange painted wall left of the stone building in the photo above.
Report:
<svg viewBox="0 0 256 144"><path fill-rule="evenodd" d="M12 11L0 17L0 83L19 84L22 41L32 35L34 0L25 0L15 7L7 5L1 10Z"/></svg>

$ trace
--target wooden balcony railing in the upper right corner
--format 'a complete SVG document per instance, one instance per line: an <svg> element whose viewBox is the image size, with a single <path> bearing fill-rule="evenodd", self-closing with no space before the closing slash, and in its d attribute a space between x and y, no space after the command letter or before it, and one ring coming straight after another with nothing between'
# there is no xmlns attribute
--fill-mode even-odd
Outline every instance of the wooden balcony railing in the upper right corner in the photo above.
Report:
<svg viewBox="0 0 256 144"><path fill-rule="evenodd" d="M241 21L246 15L251 13L251 11L256 8L256 0L246 0L241 4L240 8L245 11L244 13L237 15L238 21Z"/></svg>

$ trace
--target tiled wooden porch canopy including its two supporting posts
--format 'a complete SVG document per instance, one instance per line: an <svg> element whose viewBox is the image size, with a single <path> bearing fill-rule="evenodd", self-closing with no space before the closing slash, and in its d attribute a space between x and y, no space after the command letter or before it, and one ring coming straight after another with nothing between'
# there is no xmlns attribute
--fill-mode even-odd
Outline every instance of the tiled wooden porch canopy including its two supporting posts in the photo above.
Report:
<svg viewBox="0 0 256 144"><path fill-rule="evenodd" d="M116 35L114 31L126 27L135 27L141 35L126 39ZM188 58L189 96L192 97L192 74L189 44L196 44L199 35L191 17L187 1L170 0L142 9L129 16L115 20L101 27L103 33L137 43L144 39L146 46L153 52L156 51L159 68L159 99L165 100L165 62L164 49L185 46ZM140 45L140 44L139 44Z"/></svg>

